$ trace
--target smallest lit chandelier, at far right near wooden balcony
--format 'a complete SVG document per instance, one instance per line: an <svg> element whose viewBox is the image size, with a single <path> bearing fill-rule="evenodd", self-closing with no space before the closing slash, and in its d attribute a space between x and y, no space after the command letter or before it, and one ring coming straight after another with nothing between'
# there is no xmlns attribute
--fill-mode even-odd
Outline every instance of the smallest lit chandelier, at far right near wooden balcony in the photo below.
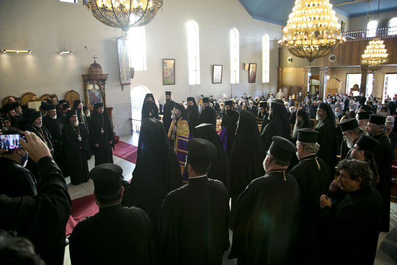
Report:
<svg viewBox="0 0 397 265"><path fill-rule="evenodd" d="M383 40L374 38L369 42L364 54L361 55L362 67L372 72L381 70L388 63L388 54L386 52Z"/></svg>

